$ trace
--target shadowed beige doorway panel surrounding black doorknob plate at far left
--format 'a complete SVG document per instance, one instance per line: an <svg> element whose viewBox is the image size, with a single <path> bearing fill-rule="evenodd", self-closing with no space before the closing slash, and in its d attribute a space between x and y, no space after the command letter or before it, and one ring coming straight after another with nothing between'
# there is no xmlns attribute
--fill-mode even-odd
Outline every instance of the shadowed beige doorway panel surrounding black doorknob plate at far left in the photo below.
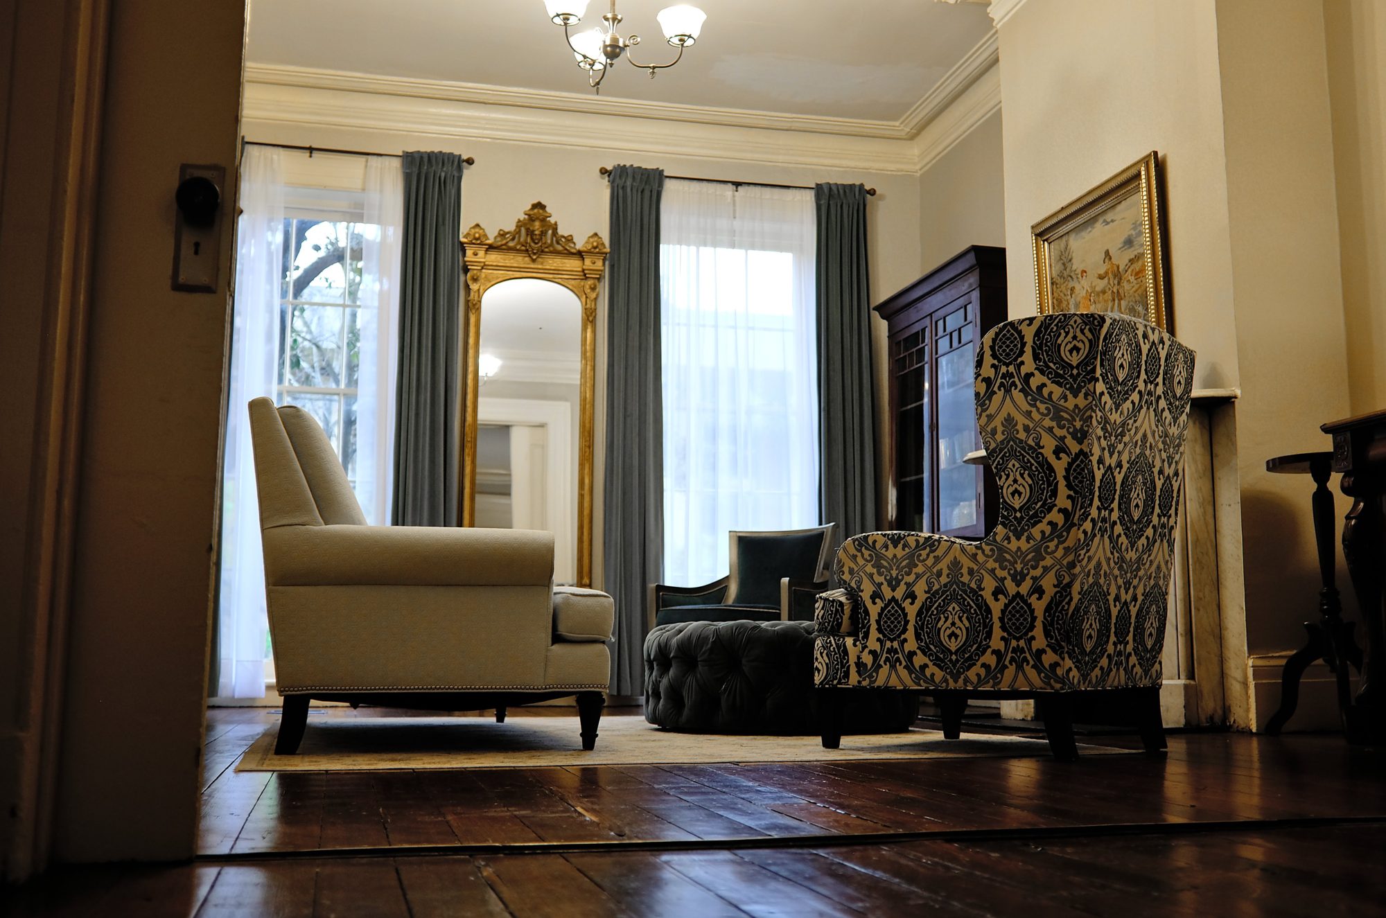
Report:
<svg viewBox="0 0 1386 918"><path fill-rule="evenodd" d="M244 4L111 4L58 860L193 854L231 223L216 293L169 288L180 162L234 201Z"/></svg>

